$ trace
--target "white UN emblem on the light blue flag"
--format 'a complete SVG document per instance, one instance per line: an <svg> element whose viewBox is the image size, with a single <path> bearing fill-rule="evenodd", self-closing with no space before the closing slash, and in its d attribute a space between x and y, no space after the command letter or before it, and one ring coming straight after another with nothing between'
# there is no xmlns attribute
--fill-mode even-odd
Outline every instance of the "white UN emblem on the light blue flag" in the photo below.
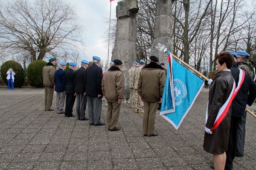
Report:
<svg viewBox="0 0 256 170"><path fill-rule="evenodd" d="M175 105L182 103L182 99L187 95L186 85L180 79L173 79Z"/></svg>

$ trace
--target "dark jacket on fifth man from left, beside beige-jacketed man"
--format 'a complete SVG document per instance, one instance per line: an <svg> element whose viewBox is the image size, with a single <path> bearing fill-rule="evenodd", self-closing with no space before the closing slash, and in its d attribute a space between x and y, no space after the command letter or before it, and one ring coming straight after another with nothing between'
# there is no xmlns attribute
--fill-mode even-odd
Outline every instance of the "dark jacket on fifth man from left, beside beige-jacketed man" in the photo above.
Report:
<svg viewBox="0 0 256 170"><path fill-rule="evenodd" d="M98 97L98 94L102 95L102 68L98 65L90 65L86 69L86 95L92 97ZM101 97L102 97L101 96Z"/></svg>

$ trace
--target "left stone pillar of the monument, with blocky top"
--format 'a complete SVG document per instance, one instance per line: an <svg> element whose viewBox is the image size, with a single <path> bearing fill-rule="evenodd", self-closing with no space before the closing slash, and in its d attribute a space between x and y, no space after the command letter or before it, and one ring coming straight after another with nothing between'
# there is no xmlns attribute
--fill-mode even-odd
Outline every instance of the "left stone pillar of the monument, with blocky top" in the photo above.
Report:
<svg viewBox="0 0 256 170"><path fill-rule="evenodd" d="M125 75L125 98L130 94L128 85L128 70L131 62L136 60L136 30L137 30L137 0L123 0L116 6L116 40L112 50L111 61L120 59L121 70Z"/></svg>

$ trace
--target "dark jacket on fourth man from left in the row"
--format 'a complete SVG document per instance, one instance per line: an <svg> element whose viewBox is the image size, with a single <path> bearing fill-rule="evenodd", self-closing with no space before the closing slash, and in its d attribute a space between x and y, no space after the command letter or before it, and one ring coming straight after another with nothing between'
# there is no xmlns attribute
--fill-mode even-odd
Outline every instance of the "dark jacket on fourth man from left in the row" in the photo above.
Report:
<svg viewBox="0 0 256 170"><path fill-rule="evenodd" d="M86 68L81 67L76 71L76 88L75 91L78 94L83 94L85 92L85 74Z"/></svg>

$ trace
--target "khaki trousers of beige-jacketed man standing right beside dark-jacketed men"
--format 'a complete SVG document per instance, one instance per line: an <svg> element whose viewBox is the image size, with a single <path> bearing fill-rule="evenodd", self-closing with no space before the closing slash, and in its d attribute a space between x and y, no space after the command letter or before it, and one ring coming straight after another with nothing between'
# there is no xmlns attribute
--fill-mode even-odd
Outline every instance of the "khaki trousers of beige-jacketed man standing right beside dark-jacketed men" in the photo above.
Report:
<svg viewBox="0 0 256 170"><path fill-rule="evenodd" d="M117 102L108 102L108 111L107 111L107 126L110 130L116 129L116 124L118 122L119 113L120 113L121 104Z"/></svg>

